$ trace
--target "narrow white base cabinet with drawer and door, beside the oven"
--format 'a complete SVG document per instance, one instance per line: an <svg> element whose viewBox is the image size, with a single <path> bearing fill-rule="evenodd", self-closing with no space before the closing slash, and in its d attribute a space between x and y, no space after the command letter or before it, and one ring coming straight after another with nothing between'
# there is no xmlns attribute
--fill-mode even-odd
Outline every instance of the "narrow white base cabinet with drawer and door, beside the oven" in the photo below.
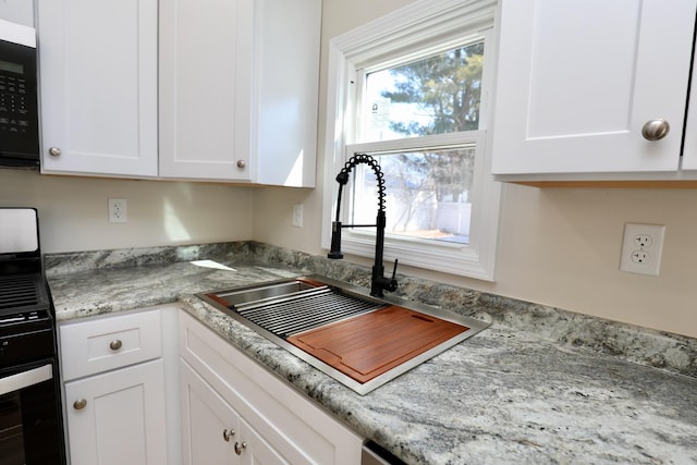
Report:
<svg viewBox="0 0 697 465"><path fill-rule="evenodd" d="M59 327L72 465L180 462L178 310L159 307Z"/></svg>

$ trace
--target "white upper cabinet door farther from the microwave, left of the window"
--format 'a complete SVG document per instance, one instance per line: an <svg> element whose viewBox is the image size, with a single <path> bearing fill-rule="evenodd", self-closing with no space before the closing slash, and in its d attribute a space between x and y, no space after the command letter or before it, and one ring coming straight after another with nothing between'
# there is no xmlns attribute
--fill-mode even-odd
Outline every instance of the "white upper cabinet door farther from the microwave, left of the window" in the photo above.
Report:
<svg viewBox="0 0 697 465"><path fill-rule="evenodd" d="M252 0L160 5L160 175L249 180Z"/></svg>

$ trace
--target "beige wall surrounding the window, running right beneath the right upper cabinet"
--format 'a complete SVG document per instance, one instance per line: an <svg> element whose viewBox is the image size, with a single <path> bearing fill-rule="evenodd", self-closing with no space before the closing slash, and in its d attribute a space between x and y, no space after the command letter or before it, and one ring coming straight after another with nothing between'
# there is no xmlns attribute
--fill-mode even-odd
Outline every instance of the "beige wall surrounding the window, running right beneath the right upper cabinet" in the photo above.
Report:
<svg viewBox="0 0 697 465"><path fill-rule="evenodd" d="M325 146L329 39L408 3L323 1L318 147ZM321 174L321 150L319 158L317 172ZM402 271L697 336L697 191L505 185L503 194L496 283L406 267ZM321 180L314 191L255 191L255 238L311 254L326 253L319 247L321 195ZM305 206L304 225L286 228L296 203ZM625 222L667 225L660 277L619 271Z"/></svg>

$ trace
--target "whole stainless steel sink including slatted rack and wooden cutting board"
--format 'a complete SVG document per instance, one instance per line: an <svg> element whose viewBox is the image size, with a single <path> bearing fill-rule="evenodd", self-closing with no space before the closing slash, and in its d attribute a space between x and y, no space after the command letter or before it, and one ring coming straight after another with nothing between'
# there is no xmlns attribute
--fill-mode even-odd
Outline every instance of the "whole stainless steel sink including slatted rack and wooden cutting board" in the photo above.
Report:
<svg viewBox="0 0 697 465"><path fill-rule="evenodd" d="M319 276L197 296L362 395L488 327Z"/></svg>

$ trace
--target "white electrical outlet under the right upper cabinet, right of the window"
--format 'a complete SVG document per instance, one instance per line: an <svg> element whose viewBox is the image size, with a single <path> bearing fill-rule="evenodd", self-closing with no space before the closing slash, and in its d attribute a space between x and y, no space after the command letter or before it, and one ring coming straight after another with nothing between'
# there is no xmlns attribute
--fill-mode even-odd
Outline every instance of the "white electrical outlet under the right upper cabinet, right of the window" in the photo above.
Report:
<svg viewBox="0 0 697 465"><path fill-rule="evenodd" d="M626 223L620 270L657 277L661 268L664 235L665 227L661 224Z"/></svg>

